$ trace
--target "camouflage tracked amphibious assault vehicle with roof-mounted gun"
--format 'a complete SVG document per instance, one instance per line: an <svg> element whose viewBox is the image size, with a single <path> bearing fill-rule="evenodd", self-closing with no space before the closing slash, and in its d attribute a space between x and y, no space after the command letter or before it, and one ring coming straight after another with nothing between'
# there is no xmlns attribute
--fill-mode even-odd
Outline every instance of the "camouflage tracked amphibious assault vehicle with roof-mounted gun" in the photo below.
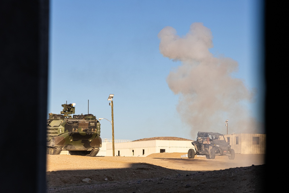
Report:
<svg viewBox="0 0 289 193"><path fill-rule="evenodd" d="M73 104L62 104L60 114L49 113L47 120L47 154L59 155L67 150L70 155L94 157L101 147L100 123L92 114L73 115Z"/></svg>

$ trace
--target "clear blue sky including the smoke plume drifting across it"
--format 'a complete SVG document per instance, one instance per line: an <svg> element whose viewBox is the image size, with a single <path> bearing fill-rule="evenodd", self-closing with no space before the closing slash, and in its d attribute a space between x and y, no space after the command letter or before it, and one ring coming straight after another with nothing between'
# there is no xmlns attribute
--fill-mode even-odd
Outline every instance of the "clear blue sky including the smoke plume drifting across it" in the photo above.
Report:
<svg viewBox="0 0 289 193"><path fill-rule="evenodd" d="M195 140L226 134L226 119L229 134L265 133L262 11L257 0L51 0L48 113L67 101L111 120L114 94L115 139Z"/></svg>

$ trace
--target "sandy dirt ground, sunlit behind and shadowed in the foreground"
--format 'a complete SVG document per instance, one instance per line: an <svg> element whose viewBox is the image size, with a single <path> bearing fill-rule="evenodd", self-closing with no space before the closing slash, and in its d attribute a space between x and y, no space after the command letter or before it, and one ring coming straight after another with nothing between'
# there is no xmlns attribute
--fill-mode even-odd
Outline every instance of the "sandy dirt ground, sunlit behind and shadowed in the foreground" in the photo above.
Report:
<svg viewBox="0 0 289 193"><path fill-rule="evenodd" d="M264 192L264 154L215 159L47 155L47 193L56 192ZM85 181L86 180L86 181Z"/></svg>

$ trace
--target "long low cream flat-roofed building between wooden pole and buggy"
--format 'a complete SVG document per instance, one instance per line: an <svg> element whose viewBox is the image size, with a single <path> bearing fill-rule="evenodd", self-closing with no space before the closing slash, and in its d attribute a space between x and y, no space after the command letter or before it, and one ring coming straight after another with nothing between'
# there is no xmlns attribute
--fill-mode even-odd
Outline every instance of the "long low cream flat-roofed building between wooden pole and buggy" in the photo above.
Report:
<svg viewBox="0 0 289 193"><path fill-rule="evenodd" d="M146 157L152 153L188 152L192 141L148 140L114 143L115 156ZM112 143L106 144L106 156L112 156Z"/></svg>

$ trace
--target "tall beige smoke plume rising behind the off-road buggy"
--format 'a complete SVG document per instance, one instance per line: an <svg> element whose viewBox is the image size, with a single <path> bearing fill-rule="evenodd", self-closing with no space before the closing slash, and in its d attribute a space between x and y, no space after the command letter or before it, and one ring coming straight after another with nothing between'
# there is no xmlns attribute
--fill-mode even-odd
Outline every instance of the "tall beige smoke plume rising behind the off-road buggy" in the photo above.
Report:
<svg viewBox="0 0 289 193"><path fill-rule="evenodd" d="M238 62L231 58L216 58L212 32L202 23L193 23L184 37L173 27L158 34L160 52L181 65L167 77L170 89L179 95L177 111L191 128L198 131L227 134L262 133L260 124L251 117L248 103L254 102L255 89L249 90L241 79L232 77Z"/></svg>

